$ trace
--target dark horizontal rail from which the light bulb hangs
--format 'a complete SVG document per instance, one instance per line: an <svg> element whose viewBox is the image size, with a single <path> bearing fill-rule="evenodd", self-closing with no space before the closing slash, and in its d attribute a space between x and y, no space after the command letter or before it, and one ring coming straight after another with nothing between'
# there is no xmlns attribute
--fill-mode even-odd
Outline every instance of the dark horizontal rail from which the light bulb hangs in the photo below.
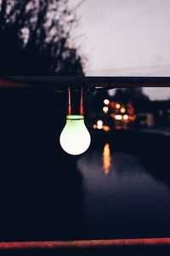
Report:
<svg viewBox="0 0 170 256"><path fill-rule="evenodd" d="M170 77L76 77L76 76L7 76L8 79L21 84L37 87L67 90L87 87L89 89L112 89L123 87L170 87Z"/></svg>

